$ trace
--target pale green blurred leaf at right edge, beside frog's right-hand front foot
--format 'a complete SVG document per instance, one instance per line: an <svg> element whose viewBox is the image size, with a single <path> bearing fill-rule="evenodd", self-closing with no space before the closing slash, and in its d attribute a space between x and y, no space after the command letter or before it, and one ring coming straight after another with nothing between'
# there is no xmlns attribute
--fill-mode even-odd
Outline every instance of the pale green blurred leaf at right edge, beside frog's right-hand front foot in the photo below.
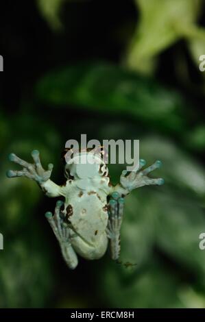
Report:
<svg viewBox="0 0 205 322"><path fill-rule="evenodd" d="M167 184L186 189L204 200L205 171L202 164L189 156L170 140L160 136L141 138L141 156L147 156L149 162L162 160L162 169L158 171L165 177Z"/></svg>

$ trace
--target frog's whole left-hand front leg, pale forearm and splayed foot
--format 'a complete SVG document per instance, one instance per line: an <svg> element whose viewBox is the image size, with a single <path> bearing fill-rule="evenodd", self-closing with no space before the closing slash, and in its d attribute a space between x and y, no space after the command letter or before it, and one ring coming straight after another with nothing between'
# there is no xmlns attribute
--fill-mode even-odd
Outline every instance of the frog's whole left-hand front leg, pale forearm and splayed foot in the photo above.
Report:
<svg viewBox="0 0 205 322"><path fill-rule="evenodd" d="M9 170L7 172L7 176L28 177L29 179L33 179L49 197L58 197L60 195L63 195L62 188L49 179L53 170L53 164L48 165L47 171L43 169L43 166L40 162L38 150L32 151L32 158L34 160L34 164L22 160L14 153L10 153L9 160L20 164L21 166L23 166L23 169L21 171Z"/></svg>

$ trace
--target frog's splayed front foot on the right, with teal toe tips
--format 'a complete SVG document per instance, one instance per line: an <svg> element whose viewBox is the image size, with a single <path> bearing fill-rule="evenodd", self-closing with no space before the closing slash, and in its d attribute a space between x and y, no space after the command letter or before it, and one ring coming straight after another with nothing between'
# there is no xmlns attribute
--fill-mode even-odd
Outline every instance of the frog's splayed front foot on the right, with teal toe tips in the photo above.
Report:
<svg viewBox="0 0 205 322"><path fill-rule="evenodd" d="M160 160L157 160L156 162L154 162L154 164L142 170L145 164L145 160L141 159L137 171L132 171L128 174L128 171L124 170L120 177L121 186L130 192L133 189L139 188L141 186L149 186L151 184L160 186L164 184L165 180L162 178L154 179L147 176L150 172L160 168L162 162L160 162Z"/></svg>

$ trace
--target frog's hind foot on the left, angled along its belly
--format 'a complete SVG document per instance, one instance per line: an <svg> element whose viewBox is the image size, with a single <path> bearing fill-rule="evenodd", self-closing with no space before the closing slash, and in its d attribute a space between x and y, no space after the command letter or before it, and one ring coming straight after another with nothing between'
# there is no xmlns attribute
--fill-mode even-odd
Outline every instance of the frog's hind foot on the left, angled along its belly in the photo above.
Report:
<svg viewBox="0 0 205 322"><path fill-rule="evenodd" d="M78 263L77 255L71 245L71 230L61 218L60 208L63 204L62 201L57 201L54 215L51 212L46 212L45 216L51 225L53 233L58 239L65 262L70 269L75 269Z"/></svg>

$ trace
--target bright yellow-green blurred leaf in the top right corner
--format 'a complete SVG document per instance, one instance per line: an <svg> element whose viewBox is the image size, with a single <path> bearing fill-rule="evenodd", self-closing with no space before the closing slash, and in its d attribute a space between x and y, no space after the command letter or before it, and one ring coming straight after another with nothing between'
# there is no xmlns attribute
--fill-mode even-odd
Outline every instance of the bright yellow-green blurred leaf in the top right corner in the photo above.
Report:
<svg viewBox="0 0 205 322"><path fill-rule="evenodd" d="M205 29L197 26L202 0L135 0L140 12L136 32L126 58L135 71L152 74L159 53L181 38L191 49L193 60L205 50Z"/></svg>

